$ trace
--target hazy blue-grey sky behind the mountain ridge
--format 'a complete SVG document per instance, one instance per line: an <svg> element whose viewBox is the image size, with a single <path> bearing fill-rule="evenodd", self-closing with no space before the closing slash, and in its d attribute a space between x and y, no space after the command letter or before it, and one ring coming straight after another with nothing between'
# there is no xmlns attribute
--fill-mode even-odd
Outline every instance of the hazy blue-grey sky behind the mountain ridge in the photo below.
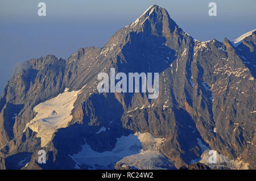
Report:
<svg viewBox="0 0 256 181"><path fill-rule="evenodd" d="M46 3L46 16L38 16L39 2ZM209 2L217 4L217 16L208 15ZM256 28L255 0L1 0L0 92L18 62L102 47L154 4L200 41L233 40Z"/></svg>

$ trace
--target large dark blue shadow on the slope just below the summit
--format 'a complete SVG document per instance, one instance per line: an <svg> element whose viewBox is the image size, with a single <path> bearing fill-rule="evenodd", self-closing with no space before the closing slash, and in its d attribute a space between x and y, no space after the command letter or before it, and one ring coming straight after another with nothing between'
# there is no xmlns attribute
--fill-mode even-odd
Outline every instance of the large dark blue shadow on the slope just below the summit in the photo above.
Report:
<svg viewBox="0 0 256 181"><path fill-rule="evenodd" d="M171 63L176 59L175 50L165 45L166 38L164 37L145 35L144 32L139 32L138 34L131 32L129 36L130 42L122 48L124 57L118 57L117 59L116 71L126 73L126 75L135 72L139 74L152 73L153 83L154 73L162 73L169 68ZM128 77L127 81L129 81ZM127 86L127 90L129 90L129 86ZM133 95L133 93L125 94L127 107L131 106L130 103L133 99ZM148 96L148 92L146 95Z"/></svg>

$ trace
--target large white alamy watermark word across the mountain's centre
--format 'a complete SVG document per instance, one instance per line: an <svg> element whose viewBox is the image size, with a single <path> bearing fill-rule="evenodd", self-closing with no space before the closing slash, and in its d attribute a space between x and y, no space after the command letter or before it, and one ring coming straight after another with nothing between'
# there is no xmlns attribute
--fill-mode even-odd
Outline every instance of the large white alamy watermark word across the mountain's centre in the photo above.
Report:
<svg viewBox="0 0 256 181"><path fill-rule="evenodd" d="M98 83L98 92L148 92L148 99L156 99L159 95L159 73L154 73L154 81L152 81L152 73L129 73L128 74L128 84L127 75L123 72L119 72L115 75L115 69L110 69L110 80L107 73L99 73L97 79L100 81ZM141 79L141 81L140 81ZM119 80L115 84L115 80ZM110 86L109 86L110 82ZM141 82L141 86L140 86ZM154 82L154 86L153 86ZM127 90L128 87L128 90Z"/></svg>

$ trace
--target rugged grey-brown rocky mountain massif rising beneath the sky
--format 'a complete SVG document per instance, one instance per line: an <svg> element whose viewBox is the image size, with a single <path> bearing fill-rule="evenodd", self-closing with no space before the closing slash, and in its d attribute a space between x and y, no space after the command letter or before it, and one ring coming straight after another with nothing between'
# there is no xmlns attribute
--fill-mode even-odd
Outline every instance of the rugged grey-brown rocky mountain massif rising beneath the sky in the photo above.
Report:
<svg viewBox="0 0 256 181"><path fill-rule="evenodd" d="M0 169L214 167L205 150L256 169L255 43L197 41L154 5L102 48L24 62L0 100ZM158 98L100 94L110 68L159 73Z"/></svg>

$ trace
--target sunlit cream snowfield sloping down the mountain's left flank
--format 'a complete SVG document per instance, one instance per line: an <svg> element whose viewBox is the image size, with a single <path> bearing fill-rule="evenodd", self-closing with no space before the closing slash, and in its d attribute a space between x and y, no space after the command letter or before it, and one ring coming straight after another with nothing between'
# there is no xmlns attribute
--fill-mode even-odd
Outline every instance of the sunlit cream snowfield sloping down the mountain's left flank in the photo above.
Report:
<svg viewBox="0 0 256 181"><path fill-rule="evenodd" d="M71 111L79 91L68 92L65 89L63 93L55 98L35 106L33 110L37 112L37 115L27 123L24 131L29 127L32 131L37 132L37 137L41 138L41 146L46 146L51 141L52 134L59 128L67 127L72 120Z"/></svg>

